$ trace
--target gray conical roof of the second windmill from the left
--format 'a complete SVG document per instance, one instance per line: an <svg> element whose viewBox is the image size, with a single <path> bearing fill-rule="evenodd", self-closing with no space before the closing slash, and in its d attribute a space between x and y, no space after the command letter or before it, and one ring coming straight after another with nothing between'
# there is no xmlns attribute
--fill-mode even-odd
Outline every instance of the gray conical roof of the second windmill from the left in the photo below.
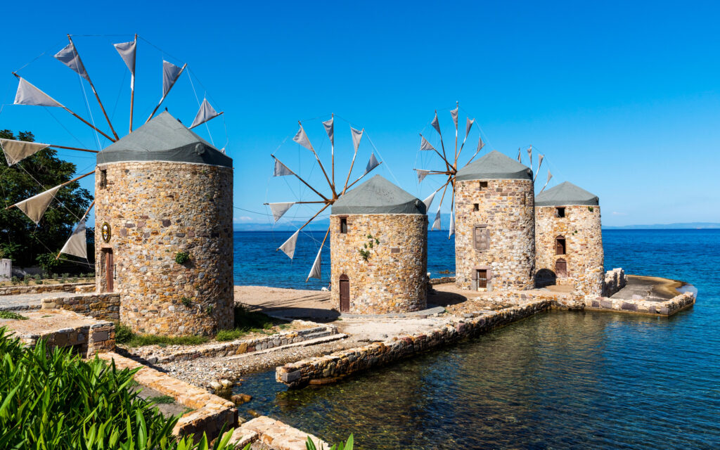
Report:
<svg viewBox="0 0 720 450"><path fill-rule="evenodd" d="M382 176L373 176L340 197L330 214L425 214L425 204Z"/></svg>

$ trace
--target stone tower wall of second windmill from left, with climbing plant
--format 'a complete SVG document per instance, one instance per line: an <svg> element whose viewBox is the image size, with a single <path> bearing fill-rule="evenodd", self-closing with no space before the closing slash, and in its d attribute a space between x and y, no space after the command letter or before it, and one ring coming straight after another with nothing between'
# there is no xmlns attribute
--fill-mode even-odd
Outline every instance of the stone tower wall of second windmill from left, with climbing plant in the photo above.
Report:
<svg viewBox="0 0 720 450"><path fill-rule="evenodd" d="M348 232L340 233L346 217ZM372 235L369 246L367 236ZM340 276L350 282L351 314L423 310L427 298L428 216L424 214L330 215L330 289L340 310ZM360 250L370 252L367 261Z"/></svg>

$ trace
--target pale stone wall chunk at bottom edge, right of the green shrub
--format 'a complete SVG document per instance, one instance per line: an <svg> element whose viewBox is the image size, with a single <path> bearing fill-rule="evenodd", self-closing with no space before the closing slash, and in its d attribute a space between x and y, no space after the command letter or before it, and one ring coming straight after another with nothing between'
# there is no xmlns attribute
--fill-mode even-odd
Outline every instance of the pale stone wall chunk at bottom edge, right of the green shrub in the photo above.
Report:
<svg viewBox="0 0 720 450"><path fill-rule="evenodd" d="M330 444L321 441L320 438L265 415L248 420L236 428L230 442L235 444L235 448L240 449L242 448L240 445L259 440L274 450L305 450L307 438L312 439L317 449L330 449Z"/></svg>

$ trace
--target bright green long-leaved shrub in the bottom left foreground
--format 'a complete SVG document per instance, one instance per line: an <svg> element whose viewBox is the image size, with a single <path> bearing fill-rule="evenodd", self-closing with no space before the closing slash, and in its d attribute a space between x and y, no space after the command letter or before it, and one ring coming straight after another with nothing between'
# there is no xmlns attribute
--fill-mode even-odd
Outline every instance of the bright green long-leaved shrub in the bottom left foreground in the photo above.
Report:
<svg viewBox="0 0 720 450"><path fill-rule="evenodd" d="M176 438L165 418L128 389L136 370L68 349L21 345L0 328L0 449L204 450L207 438ZM230 433L213 449L230 450ZM249 446L246 447L249 449Z"/></svg>

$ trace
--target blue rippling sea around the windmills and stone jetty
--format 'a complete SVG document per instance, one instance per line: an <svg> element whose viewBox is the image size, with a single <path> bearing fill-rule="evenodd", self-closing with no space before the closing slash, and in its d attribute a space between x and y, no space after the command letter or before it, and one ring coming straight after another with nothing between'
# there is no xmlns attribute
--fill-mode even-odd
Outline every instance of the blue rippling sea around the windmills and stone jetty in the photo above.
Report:
<svg viewBox="0 0 720 450"><path fill-rule="evenodd" d="M305 282L323 233L235 233L235 284ZM720 230L603 230L606 269L691 284L671 318L546 312L336 384L288 390L274 371L245 377L240 407L356 449L720 448ZM428 234L428 271L452 275L454 242Z"/></svg>

